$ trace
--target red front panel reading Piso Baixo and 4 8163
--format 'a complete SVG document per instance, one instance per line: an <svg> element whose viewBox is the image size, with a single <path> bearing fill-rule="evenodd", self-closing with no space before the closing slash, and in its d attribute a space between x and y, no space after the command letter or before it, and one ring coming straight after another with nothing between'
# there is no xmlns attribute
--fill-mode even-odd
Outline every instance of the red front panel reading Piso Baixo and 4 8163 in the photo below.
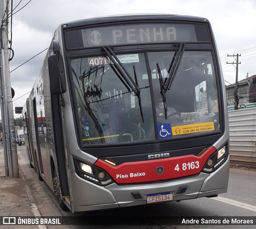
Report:
<svg viewBox="0 0 256 229"><path fill-rule="evenodd" d="M199 157L186 155L152 161L135 161L122 163L116 167L98 159L94 165L104 169L118 184L152 182L200 173L208 158L215 151L216 149L211 146ZM159 174L159 172L162 173Z"/></svg>

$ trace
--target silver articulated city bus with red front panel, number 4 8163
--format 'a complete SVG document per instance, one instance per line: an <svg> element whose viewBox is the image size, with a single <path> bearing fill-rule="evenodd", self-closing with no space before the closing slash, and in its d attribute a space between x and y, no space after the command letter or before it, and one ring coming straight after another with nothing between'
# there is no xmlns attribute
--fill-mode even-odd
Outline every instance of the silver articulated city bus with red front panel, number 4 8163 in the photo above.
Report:
<svg viewBox="0 0 256 229"><path fill-rule="evenodd" d="M139 14L61 24L23 109L30 166L62 209L225 193L225 87L206 18Z"/></svg>

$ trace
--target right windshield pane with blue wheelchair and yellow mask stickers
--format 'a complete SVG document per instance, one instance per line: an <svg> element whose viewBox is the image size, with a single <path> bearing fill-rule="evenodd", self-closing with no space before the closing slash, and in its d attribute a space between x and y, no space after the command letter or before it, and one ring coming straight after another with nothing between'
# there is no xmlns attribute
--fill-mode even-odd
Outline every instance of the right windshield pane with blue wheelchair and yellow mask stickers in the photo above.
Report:
<svg viewBox="0 0 256 229"><path fill-rule="evenodd" d="M184 52L170 90L164 95L166 104L161 80L163 83L167 81L175 52L150 52L148 58L152 69L158 137L181 137L220 130L211 52Z"/></svg>

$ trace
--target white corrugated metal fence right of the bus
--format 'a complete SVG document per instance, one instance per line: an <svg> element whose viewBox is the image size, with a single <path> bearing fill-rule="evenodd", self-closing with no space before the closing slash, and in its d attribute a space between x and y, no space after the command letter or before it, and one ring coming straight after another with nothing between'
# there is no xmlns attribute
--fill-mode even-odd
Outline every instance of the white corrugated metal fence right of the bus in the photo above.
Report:
<svg viewBox="0 0 256 229"><path fill-rule="evenodd" d="M256 108L228 112L230 164L256 167Z"/></svg>

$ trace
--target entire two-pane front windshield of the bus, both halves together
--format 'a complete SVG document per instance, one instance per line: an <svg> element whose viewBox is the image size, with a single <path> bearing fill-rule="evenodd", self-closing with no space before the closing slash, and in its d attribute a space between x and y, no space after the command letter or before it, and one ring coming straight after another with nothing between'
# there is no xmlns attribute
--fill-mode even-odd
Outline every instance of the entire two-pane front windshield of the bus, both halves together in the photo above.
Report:
<svg viewBox="0 0 256 229"><path fill-rule="evenodd" d="M108 56L71 60L81 145L170 139L220 130L212 53L185 50L165 99L161 80L168 79L176 52L146 55L150 73L144 53L116 55L134 82L137 76L140 100L116 70L118 63Z"/></svg>

